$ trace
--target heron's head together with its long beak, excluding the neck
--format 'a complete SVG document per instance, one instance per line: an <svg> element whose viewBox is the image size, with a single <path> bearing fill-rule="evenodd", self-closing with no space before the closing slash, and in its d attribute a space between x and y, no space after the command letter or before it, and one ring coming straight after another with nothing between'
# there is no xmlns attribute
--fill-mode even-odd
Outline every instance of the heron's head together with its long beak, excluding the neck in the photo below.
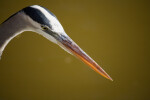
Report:
<svg viewBox="0 0 150 100"><path fill-rule="evenodd" d="M33 5L23 9L30 24L30 30L43 35L58 44L70 54L75 55L96 72L107 79L111 77L90 58L64 31L56 16L44 7Z"/></svg>

